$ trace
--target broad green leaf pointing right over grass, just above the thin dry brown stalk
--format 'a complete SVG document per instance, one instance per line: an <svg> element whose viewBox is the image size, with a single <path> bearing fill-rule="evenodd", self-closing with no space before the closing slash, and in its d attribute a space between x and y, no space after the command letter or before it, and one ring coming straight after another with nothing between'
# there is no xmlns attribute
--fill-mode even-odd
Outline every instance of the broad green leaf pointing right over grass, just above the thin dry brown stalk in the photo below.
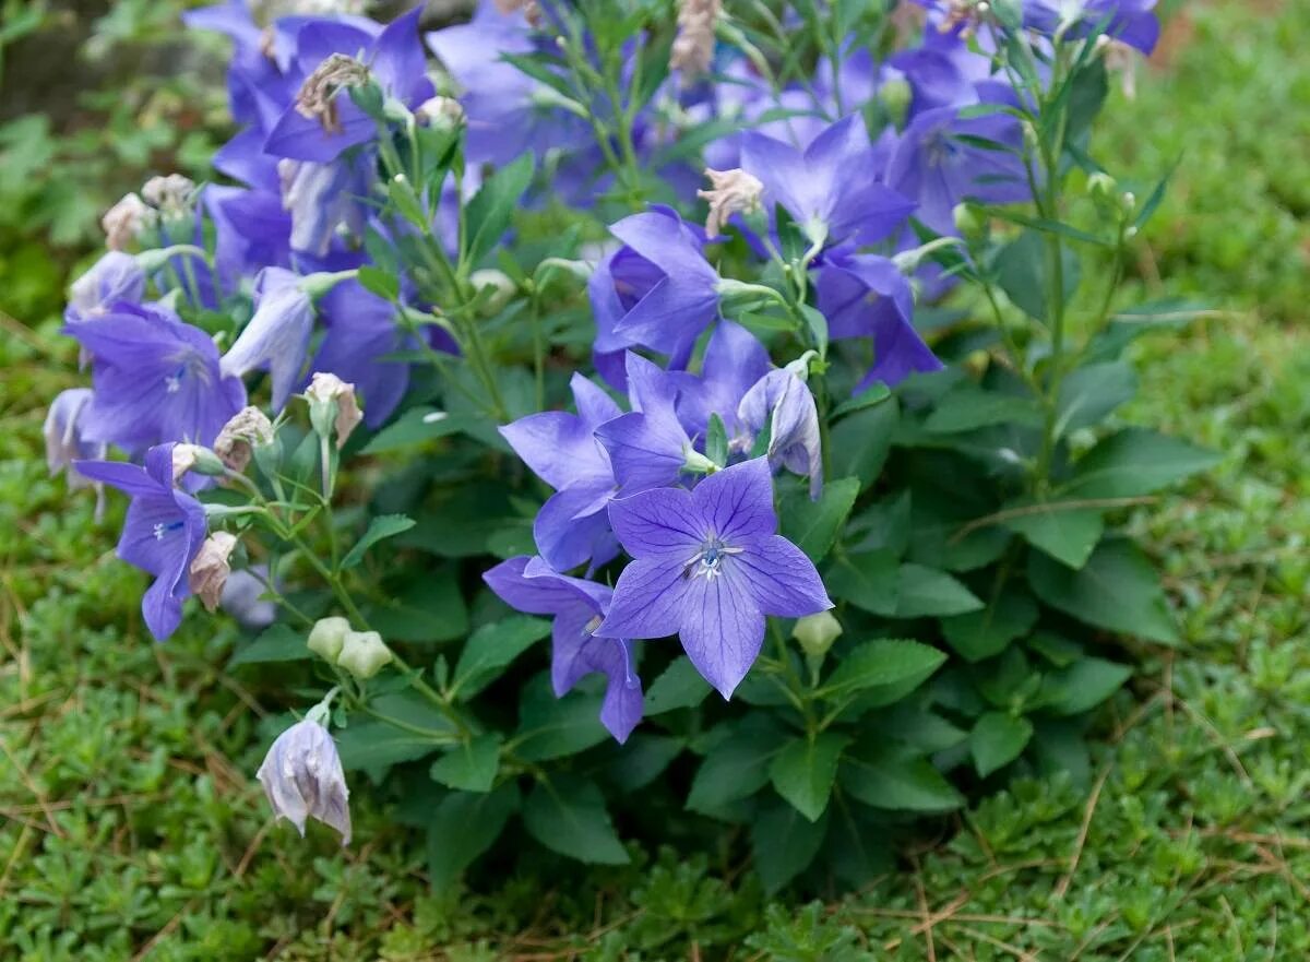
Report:
<svg viewBox="0 0 1310 962"><path fill-rule="evenodd" d="M1144 427L1129 427L1102 440L1074 465L1061 488L1069 498L1136 498L1213 468L1217 451Z"/></svg>

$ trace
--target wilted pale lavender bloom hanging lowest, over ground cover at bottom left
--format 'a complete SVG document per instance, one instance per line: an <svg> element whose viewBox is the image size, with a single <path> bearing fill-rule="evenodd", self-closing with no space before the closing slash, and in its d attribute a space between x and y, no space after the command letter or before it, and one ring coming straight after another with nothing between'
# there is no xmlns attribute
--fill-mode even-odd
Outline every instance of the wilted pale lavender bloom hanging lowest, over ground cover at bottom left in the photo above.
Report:
<svg viewBox="0 0 1310 962"><path fill-rule="evenodd" d="M301 837L305 820L316 818L341 832L341 844L348 845L350 789L337 746L320 721L326 716L326 708L318 705L278 735L255 777L274 814L288 819Z"/></svg>

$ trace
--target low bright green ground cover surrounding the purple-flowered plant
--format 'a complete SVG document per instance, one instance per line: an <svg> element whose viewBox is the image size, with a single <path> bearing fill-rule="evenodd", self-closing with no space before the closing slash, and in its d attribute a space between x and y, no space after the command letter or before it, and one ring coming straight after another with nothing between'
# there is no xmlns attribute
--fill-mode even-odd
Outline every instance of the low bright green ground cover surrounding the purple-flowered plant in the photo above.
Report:
<svg viewBox="0 0 1310 962"><path fill-rule="evenodd" d="M51 318L0 317L0 952L62 959L1284 959L1310 953L1310 4L1188 5L1107 147L1183 163L1134 296L1218 313L1136 350L1128 417L1225 452L1131 523L1187 642L1144 650L1086 785L1017 781L905 868L768 904L719 855L635 852L542 891L531 864L427 893L424 856L358 790L348 851L272 826L253 772L276 721L224 668L231 629L166 646L103 523L41 461L79 380ZM126 186L126 185L124 185ZM554 872L554 869L552 869ZM553 878L557 878L553 875Z"/></svg>

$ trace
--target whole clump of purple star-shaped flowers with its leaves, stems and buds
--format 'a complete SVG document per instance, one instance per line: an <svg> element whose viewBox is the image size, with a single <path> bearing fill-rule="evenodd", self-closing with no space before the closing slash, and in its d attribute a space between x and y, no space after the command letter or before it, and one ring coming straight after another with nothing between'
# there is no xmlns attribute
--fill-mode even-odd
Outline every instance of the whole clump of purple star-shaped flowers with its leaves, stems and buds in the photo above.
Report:
<svg viewBox="0 0 1310 962"><path fill-rule="evenodd" d="M238 132L106 214L48 453L131 499L157 640L246 625L276 814L348 843L371 782L438 887L723 826L854 886L1087 777L1104 642L1178 641L1114 522L1214 461L1114 423L1191 316L1112 309L1165 181L1094 121L1149 3L187 20Z"/></svg>

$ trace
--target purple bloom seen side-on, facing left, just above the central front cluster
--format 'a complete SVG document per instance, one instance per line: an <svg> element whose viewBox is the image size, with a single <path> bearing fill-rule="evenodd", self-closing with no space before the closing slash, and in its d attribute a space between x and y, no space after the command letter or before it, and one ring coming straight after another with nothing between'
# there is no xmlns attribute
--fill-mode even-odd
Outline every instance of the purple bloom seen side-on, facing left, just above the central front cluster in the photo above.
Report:
<svg viewBox="0 0 1310 962"><path fill-rule="evenodd" d="M624 218L609 231L646 262L630 263L629 270L639 269L643 279L654 282L614 324L614 336L626 345L668 354L675 366L685 363L696 338L719 315L719 275L705 260L703 236L667 207ZM616 275L620 298L625 279Z"/></svg>

